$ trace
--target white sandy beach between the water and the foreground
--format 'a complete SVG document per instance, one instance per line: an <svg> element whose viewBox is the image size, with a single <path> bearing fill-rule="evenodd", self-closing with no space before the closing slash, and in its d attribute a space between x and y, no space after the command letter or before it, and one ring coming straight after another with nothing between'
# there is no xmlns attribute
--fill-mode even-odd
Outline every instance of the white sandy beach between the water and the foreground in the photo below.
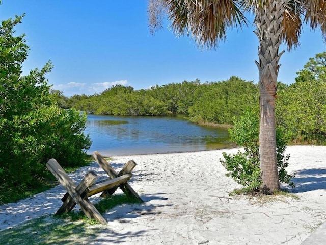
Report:
<svg viewBox="0 0 326 245"><path fill-rule="evenodd" d="M288 147L288 171L296 173L289 190L300 199L269 201L228 195L240 186L219 159L237 150L114 157L117 170L130 159L138 164L130 185L145 204L107 211L107 229L89 244L301 244L326 220L326 147ZM105 176L96 163L70 176L78 182L89 170ZM55 213L64 193L57 186L0 206L0 229Z"/></svg>

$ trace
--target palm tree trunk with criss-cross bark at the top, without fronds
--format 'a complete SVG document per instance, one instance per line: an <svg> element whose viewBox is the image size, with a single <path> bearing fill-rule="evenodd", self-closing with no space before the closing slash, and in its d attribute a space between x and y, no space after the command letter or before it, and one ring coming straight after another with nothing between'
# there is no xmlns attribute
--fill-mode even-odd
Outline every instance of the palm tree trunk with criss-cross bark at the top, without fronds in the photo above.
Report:
<svg viewBox="0 0 326 245"><path fill-rule="evenodd" d="M259 154L262 187L266 193L280 189L276 154L275 102L278 64L281 45L283 11L285 0L269 1L268 6L257 9L255 32L259 38L258 56L260 86Z"/></svg>

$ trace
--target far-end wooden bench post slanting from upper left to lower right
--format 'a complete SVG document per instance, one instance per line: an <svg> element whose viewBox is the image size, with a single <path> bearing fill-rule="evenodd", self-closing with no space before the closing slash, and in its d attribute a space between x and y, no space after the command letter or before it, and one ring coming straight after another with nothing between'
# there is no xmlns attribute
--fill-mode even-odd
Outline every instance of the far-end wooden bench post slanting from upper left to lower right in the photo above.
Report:
<svg viewBox="0 0 326 245"><path fill-rule="evenodd" d="M112 168L112 166L104 159L104 157L102 157L102 155L98 151L95 151L93 153L93 157L96 160L96 162L98 163L98 165L100 165L100 167L103 168L103 170L105 171L105 173L108 176L110 176L111 179L114 179L114 178L117 178L118 177L118 173ZM131 165L132 165L132 163L131 163ZM126 169L129 169L129 167L126 167ZM135 192L128 183L125 183L125 184L120 185L119 188L126 195L133 195L134 198L136 198L139 202L144 203L144 201L139 197L138 193Z"/></svg>

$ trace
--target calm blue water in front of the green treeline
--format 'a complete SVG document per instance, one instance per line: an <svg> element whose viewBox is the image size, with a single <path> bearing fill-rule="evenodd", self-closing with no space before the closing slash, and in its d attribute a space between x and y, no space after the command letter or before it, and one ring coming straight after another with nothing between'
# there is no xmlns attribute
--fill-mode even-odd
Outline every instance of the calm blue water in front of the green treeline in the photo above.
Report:
<svg viewBox="0 0 326 245"><path fill-rule="evenodd" d="M230 146L226 129L198 126L182 115L166 117L88 115L93 144L88 153L130 155L188 152Z"/></svg>

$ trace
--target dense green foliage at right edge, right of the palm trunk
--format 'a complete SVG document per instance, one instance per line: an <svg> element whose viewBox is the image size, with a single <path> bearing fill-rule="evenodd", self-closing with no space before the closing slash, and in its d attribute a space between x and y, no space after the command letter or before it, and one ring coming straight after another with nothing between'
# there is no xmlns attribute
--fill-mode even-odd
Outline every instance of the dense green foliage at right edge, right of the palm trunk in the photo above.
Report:
<svg viewBox="0 0 326 245"><path fill-rule="evenodd" d="M295 83L278 92L277 124L292 143L324 144L326 139L326 52L310 58Z"/></svg>

